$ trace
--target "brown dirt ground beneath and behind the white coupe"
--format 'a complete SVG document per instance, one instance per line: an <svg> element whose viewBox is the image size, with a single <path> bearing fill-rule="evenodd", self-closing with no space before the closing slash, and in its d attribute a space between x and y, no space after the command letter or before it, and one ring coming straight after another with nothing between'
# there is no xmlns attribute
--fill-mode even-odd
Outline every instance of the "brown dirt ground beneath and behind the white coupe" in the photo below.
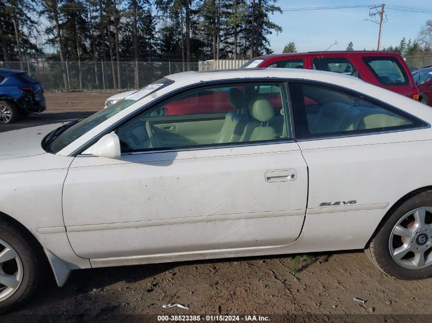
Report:
<svg viewBox="0 0 432 323"><path fill-rule="evenodd" d="M89 115L110 95L47 93L47 111L18 127ZM362 251L195 261L73 271L64 287L51 281L0 320L14 321L16 314L432 314L431 290L432 279L385 276ZM189 310L162 308L170 302Z"/></svg>

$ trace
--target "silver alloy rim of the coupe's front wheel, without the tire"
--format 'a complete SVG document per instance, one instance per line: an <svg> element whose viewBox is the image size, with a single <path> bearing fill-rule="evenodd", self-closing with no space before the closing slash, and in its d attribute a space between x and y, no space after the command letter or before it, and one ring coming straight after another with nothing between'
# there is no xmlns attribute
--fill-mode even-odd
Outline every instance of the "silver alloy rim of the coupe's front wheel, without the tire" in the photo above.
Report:
<svg viewBox="0 0 432 323"><path fill-rule="evenodd" d="M22 262L17 252L0 239L0 302L10 297L21 285Z"/></svg>

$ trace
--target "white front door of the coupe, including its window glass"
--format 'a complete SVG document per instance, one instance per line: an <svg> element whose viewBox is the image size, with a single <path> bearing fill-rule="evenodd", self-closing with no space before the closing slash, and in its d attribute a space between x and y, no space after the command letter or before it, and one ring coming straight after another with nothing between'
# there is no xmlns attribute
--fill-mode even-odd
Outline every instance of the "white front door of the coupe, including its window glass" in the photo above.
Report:
<svg viewBox="0 0 432 323"><path fill-rule="evenodd" d="M74 251L109 265L297 239L308 177L286 102L281 83L201 86L120 126L120 160L77 156L63 189Z"/></svg>

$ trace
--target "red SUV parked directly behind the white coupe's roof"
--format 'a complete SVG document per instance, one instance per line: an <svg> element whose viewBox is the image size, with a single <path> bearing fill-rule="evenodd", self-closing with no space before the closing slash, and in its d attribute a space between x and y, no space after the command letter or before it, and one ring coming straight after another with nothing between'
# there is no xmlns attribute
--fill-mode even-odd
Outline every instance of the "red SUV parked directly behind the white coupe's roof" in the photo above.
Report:
<svg viewBox="0 0 432 323"><path fill-rule="evenodd" d="M389 52L308 52L264 55L242 66L307 68L355 76L363 81L419 100L419 90L402 56Z"/></svg>

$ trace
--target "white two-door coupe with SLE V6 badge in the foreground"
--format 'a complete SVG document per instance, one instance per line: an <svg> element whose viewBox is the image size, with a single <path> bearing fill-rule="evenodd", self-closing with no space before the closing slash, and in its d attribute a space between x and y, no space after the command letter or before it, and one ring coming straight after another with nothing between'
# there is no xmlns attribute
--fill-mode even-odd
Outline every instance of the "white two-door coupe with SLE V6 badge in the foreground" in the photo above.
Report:
<svg viewBox="0 0 432 323"><path fill-rule="evenodd" d="M331 72L163 78L0 134L0 309L71 270L366 249L432 276L432 110Z"/></svg>

